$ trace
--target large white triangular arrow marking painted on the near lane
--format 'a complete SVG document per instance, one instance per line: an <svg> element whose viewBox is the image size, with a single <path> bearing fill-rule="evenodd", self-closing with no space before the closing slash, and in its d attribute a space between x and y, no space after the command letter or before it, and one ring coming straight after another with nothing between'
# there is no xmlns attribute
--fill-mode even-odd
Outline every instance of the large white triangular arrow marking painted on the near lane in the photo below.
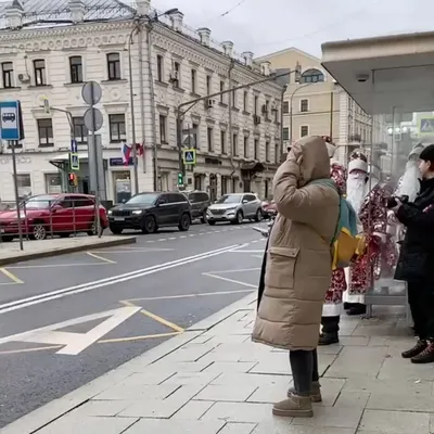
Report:
<svg viewBox="0 0 434 434"><path fill-rule="evenodd" d="M74 318L68 321L29 330L24 333L13 334L0 339L0 345L7 342L31 342L36 344L64 345L56 354L76 356L84 349L105 336L108 332L122 322L138 312L141 307L120 307L118 309L106 310L99 314L87 315L86 317ZM93 321L95 319L107 318L105 321L95 326L87 333L62 332L60 329Z"/></svg>

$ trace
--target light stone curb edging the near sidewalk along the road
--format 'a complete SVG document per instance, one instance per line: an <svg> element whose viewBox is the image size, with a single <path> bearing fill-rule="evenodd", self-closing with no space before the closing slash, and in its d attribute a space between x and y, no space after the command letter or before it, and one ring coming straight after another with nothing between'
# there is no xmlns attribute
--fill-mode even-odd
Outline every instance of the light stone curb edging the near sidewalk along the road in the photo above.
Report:
<svg viewBox="0 0 434 434"><path fill-rule="evenodd" d="M23 416L22 418L0 430L0 433L36 434L39 430L47 426L51 422L54 422L66 413L73 411L108 387L112 387L114 384L127 379L135 372L135 367L137 365L143 369L143 366L157 362L158 360L168 356L170 353L176 352L181 346L188 344L197 336L218 326L221 321L225 321L235 312L241 310L256 309L255 303L256 291L253 294L248 294L238 302L232 303L210 317L197 322L195 326L187 329L184 333L163 342L163 344L159 344L143 355L138 356L124 365L120 365L112 371L108 371L98 379L94 379L90 383L78 387L63 397L46 404L44 406L31 411L26 416Z"/></svg>

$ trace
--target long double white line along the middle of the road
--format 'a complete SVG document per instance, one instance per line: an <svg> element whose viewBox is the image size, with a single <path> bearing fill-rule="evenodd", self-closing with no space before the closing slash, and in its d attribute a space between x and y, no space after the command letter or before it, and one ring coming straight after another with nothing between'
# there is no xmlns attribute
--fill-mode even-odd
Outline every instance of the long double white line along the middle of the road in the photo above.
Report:
<svg viewBox="0 0 434 434"><path fill-rule="evenodd" d="M153 275L154 272L168 270L170 268L179 267L181 265L195 263L197 260L207 259L217 255L221 255L233 250L235 245L230 245L228 247L218 248L215 251L204 252L199 255L188 256L181 259L171 260L169 263L158 264L152 267L146 267L141 270L129 271L123 275L112 276L110 278L95 280L93 282L81 283L75 286L65 288L63 290L50 291L48 293L34 295L31 297L26 297L17 299L15 302L4 303L0 305L0 315L7 314L9 311L23 309L25 307L34 306L40 303L47 303L53 299L63 298L67 295L79 294L87 291L92 291L99 288L126 282L131 279L138 279L144 276Z"/></svg>

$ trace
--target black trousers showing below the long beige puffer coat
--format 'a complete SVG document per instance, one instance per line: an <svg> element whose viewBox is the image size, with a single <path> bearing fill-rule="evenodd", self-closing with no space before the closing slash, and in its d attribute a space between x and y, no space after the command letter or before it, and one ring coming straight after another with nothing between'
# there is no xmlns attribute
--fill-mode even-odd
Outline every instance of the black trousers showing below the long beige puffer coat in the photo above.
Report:
<svg viewBox="0 0 434 434"><path fill-rule="evenodd" d="M292 350L290 352L290 363L296 394L299 396L309 396L311 393L311 383L319 380L317 350Z"/></svg>

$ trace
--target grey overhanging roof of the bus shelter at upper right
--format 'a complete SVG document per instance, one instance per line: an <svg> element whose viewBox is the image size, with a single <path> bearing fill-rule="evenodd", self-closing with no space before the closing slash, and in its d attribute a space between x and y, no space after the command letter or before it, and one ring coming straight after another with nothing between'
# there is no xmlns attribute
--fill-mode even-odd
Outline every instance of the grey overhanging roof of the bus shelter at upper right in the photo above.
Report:
<svg viewBox="0 0 434 434"><path fill-rule="evenodd" d="M434 33L326 42L322 65L369 114L434 110Z"/></svg>

